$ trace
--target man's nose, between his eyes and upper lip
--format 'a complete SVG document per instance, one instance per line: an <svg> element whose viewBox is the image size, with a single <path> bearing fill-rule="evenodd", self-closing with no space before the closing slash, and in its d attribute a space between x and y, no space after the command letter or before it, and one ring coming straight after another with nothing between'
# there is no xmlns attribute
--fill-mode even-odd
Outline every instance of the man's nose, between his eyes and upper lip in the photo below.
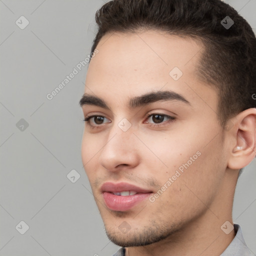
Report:
<svg viewBox="0 0 256 256"><path fill-rule="evenodd" d="M99 163L108 171L118 171L123 166L133 168L139 162L137 139L132 126L123 131L114 124L99 155Z"/></svg>

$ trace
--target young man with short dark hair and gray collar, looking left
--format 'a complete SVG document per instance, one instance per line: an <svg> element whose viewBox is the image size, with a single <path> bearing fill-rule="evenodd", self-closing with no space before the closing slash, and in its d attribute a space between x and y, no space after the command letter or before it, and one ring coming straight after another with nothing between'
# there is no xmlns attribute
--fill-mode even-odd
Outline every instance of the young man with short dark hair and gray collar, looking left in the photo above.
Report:
<svg viewBox="0 0 256 256"><path fill-rule="evenodd" d="M81 155L115 255L254 255L232 222L256 154L251 27L220 0L113 0L96 22Z"/></svg>

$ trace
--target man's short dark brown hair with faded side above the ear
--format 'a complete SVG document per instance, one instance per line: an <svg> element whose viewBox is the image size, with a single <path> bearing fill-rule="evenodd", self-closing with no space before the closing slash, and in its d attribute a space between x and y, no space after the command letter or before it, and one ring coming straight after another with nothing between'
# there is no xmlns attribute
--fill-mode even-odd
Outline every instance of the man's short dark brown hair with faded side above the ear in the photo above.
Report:
<svg viewBox="0 0 256 256"><path fill-rule="evenodd" d="M229 16L229 28L221 20ZM256 38L230 5L220 0L111 0L95 14L98 26L91 54L110 32L157 29L199 40L203 52L196 74L218 91L217 116L222 127L229 117L256 107Z"/></svg>

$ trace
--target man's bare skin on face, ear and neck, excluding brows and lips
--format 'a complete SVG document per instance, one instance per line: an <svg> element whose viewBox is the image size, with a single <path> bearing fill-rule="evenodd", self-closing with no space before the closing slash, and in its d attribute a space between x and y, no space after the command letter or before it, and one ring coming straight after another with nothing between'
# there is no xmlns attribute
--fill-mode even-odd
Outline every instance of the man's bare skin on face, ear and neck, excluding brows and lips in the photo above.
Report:
<svg viewBox="0 0 256 256"><path fill-rule="evenodd" d="M104 99L111 110L82 106L84 117L105 117L85 123L81 144L84 169L111 241L126 246L126 255L220 255L234 238L221 230L232 222L232 203L238 169L255 156L256 109L231 118L229 130L217 119L217 93L199 80L195 67L202 46L193 39L147 30L104 35L91 59L84 93ZM177 66L177 80L169 72ZM178 100L158 101L131 109L130 97L171 89ZM174 116L152 127L147 113ZM129 120L122 131L118 122ZM97 126L90 128L91 125ZM240 146L237 149L237 146ZM154 193L197 151L201 154L168 188L128 211L106 207L100 186L106 181L128 182ZM124 221L130 229L123 233Z"/></svg>

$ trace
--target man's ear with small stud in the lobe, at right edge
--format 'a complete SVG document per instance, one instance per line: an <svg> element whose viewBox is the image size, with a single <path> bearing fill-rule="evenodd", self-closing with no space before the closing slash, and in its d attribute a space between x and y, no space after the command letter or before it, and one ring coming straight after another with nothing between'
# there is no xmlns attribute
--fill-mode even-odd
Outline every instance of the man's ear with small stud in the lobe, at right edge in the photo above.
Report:
<svg viewBox="0 0 256 256"><path fill-rule="evenodd" d="M248 165L256 155L256 108L248 108L231 118L232 128L230 156L227 167L240 169ZM230 138L230 137L229 137Z"/></svg>

